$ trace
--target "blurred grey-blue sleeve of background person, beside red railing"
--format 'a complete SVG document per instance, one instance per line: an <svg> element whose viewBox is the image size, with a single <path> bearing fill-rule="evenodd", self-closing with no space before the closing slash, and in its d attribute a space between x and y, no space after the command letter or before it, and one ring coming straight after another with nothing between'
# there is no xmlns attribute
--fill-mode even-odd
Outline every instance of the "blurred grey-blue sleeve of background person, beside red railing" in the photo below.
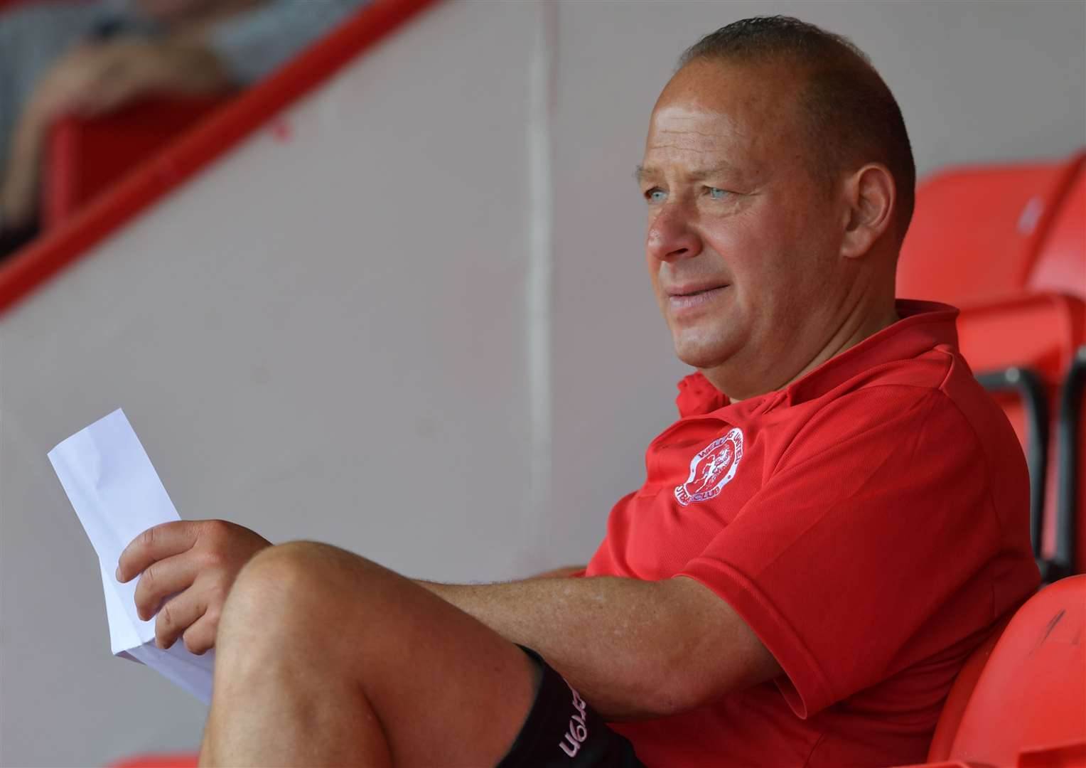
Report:
<svg viewBox="0 0 1086 768"><path fill-rule="evenodd" d="M235 84L252 85L366 2L273 0L216 24L207 36L207 46Z"/></svg>

